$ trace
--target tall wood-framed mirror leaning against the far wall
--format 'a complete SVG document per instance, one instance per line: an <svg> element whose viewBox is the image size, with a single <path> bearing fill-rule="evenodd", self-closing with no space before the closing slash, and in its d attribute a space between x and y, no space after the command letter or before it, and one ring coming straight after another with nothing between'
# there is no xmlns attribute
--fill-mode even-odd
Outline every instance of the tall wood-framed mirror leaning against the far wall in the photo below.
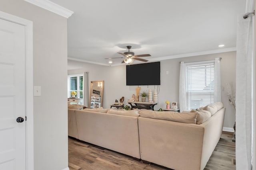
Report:
<svg viewBox="0 0 256 170"><path fill-rule="evenodd" d="M89 108L102 107L104 81L91 81Z"/></svg>

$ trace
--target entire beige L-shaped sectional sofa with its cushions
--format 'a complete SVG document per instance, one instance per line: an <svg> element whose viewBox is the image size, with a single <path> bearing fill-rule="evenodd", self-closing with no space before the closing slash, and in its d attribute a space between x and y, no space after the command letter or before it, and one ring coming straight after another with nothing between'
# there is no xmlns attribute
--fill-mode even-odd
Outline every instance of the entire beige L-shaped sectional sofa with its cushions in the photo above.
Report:
<svg viewBox="0 0 256 170"><path fill-rule="evenodd" d="M203 170L222 134L225 108L101 112L68 109L68 135L174 170Z"/></svg>

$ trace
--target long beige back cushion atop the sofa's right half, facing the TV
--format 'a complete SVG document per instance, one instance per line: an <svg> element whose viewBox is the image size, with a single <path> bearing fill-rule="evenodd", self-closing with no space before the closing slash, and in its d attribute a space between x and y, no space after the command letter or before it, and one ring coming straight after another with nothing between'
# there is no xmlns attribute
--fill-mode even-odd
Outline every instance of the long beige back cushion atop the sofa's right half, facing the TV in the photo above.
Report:
<svg viewBox="0 0 256 170"><path fill-rule="evenodd" d="M140 117L148 117L152 119L162 119L169 121L177 121L182 123L196 124L196 112L176 112L176 111L153 111L147 109L140 110Z"/></svg>

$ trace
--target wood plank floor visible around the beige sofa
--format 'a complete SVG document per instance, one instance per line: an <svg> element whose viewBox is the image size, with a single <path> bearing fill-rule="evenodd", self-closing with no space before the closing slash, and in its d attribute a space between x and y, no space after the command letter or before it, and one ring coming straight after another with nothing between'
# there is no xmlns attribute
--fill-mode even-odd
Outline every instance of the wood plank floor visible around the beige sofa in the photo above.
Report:
<svg viewBox="0 0 256 170"><path fill-rule="evenodd" d="M235 170L235 143L232 134L223 132L204 170ZM156 164L146 164L132 157L90 143L68 138L70 170L170 170Z"/></svg>

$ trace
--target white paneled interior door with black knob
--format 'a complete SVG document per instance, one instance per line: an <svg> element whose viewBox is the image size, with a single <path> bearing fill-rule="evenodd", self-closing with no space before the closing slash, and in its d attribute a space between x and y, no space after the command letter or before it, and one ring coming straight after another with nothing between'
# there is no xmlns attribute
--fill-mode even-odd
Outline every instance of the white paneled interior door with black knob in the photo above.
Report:
<svg viewBox="0 0 256 170"><path fill-rule="evenodd" d="M25 27L0 19L0 170L26 170L25 79Z"/></svg>

